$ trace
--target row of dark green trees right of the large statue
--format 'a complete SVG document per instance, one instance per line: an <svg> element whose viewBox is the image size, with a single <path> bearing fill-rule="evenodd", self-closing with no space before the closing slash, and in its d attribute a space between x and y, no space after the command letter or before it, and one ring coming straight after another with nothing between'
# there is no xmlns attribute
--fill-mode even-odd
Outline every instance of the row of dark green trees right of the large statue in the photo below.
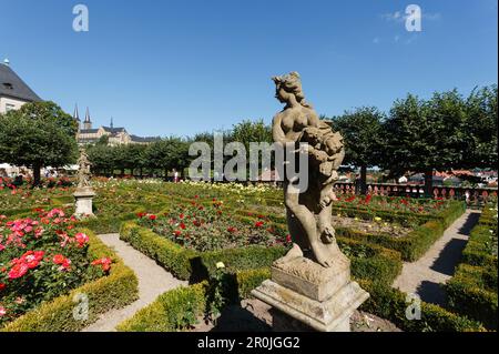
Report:
<svg viewBox="0 0 499 354"><path fill-rule="evenodd" d="M457 90L428 100L408 94L388 113L364 107L334 117L334 128L345 138L345 163L360 168L361 192L368 166L387 170L390 176L425 173L427 195L434 170L497 169L497 93L491 85L469 97Z"/></svg>

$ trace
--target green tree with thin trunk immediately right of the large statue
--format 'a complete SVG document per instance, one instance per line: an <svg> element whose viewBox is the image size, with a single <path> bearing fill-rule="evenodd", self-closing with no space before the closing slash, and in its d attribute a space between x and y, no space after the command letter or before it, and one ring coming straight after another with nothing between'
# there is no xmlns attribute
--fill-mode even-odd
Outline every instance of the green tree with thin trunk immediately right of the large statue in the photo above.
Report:
<svg viewBox="0 0 499 354"><path fill-rule="evenodd" d="M367 193L367 168L377 165L381 150L381 122L385 115L374 107L357 108L333 119L333 128L345 141L344 164L360 168L360 193Z"/></svg>

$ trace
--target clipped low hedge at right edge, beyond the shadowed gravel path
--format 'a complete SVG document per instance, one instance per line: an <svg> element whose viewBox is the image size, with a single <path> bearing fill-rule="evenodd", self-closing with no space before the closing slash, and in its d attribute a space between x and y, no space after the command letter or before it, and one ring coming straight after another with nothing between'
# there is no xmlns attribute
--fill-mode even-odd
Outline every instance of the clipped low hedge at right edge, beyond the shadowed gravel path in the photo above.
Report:
<svg viewBox="0 0 499 354"><path fill-rule="evenodd" d="M497 219L483 209L478 224L471 230L461 264L446 284L450 310L480 321L491 330L498 327L498 257ZM495 239L495 240L493 240ZM497 249L496 249L497 252Z"/></svg>

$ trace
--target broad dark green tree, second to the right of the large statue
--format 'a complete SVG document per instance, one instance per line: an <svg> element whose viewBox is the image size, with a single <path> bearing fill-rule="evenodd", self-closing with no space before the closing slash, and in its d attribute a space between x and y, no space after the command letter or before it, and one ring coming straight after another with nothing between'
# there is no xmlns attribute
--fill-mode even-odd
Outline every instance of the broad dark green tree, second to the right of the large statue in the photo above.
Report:
<svg viewBox="0 0 499 354"><path fill-rule="evenodd" d="M425 195L432 194L432 172L462 164L466 104L456 91L434 93L428 101L408 94L397 100L383 124L381 165L393 176L425 173Z"/></svg>

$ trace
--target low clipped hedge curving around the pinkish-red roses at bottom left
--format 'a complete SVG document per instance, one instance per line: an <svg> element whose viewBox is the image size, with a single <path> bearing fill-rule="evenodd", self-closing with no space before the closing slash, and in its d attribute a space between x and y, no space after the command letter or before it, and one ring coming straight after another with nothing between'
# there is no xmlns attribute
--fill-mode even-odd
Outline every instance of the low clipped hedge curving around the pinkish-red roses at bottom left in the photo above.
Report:
<svg viewBox="0 0 499 354"><path fill-rule="evenodd" d="M139 283L131 269L123 264L118 255L104 245L88 229L81 229L90 237L90 254L95 257L111 257L113 264L110 274L72 290L68 295L59 296L21 317L7 324L1 332L77 332L95 322L100 314L120 309L138 299ZM74 302L79 294L89 299L89 318L78 321L73 317Z"/></svg>

